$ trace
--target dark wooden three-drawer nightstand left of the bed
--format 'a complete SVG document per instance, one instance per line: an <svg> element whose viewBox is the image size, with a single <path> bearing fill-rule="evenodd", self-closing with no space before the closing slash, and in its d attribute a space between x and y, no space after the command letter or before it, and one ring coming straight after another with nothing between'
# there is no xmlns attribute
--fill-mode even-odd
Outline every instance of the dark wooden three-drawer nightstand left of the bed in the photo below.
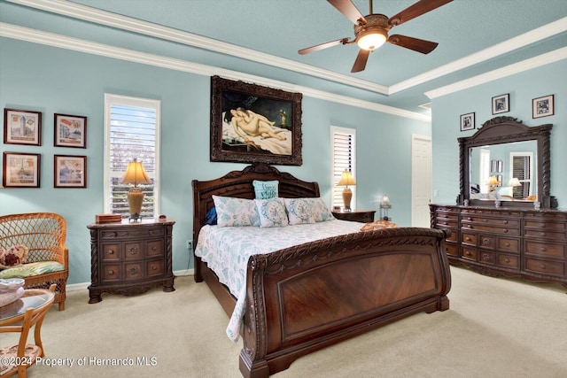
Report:
<svg viewBox="0 0 567 378"><path fill-rule="evenodd" d="M175 221L94 223L90 230L89 303L102 293L140 294L155 286L174 291L171 234Z"/></svg>

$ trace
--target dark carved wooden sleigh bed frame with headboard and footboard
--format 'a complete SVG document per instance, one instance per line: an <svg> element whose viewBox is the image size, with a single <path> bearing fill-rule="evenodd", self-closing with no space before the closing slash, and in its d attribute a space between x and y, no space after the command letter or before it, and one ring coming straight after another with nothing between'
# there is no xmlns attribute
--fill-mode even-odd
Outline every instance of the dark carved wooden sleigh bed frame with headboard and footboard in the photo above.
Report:
<svg viewBox="0 0 567 378"><path fill-rule="evenodd" d="M214 207L213 196L252 199L253 180L279 181L279 197L320 196L316 182L265 164L211 181L194 180L195 245ZM346 338L416 312L447 310L446 237L447 231L438 229L391 228L253 255L246 273L241 373L267 377ZM195 281L205 281L230 316L236 298L198 257Z"/></svg>

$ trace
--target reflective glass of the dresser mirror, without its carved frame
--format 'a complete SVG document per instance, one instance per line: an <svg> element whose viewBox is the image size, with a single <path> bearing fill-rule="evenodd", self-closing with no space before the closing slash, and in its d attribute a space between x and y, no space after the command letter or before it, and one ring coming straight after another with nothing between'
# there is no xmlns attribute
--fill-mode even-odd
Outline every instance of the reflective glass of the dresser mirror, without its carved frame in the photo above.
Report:
<svg viewBox="0 0 567 378"><path fill-rule="evenodd" d="M536 200L536 141L471 147L469 152L470 199Z"/></svg>

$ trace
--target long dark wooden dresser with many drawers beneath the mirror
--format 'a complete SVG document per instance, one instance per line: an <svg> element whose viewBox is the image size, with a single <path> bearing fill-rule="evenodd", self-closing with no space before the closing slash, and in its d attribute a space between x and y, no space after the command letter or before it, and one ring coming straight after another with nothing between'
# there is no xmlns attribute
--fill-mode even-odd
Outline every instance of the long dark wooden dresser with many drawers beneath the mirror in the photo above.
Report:
<svg viewBox="0 0 567 378"><path fill-rule="evenodd" d="M567 288L567 212L431 204L431 228L451 230L454 265Z"/></svg>

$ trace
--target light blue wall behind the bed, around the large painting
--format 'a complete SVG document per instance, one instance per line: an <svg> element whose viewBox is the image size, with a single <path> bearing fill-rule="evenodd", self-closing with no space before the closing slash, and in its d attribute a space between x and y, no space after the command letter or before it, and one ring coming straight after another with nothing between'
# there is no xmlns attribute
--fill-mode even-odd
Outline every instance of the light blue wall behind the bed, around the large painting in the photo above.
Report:
<svg viewBox="0 0 567 378"><path fill-rule="evenodd" d="M190 181L209 180L245 165L209 162L210 78L0 38L0 107L43 113L42 146L1 144L0 152L40 153L40 189L0 189L0 214L58 212L68 223L69 283L90 281L86 226L103 209L104 95L161 100L161 212L176 221L174 270L192 267ZM87 149L53 147L53 114L88 117ZM4 114L2 115L4 122ZM303 166L278 166L318 181L330 198L330 126L357 132L357 206L377 209L387 193L393 219L411 223L411 135L431 135L428 122L303 98ZM54 189L53 155L86 155L87 188Z"/></svg>

